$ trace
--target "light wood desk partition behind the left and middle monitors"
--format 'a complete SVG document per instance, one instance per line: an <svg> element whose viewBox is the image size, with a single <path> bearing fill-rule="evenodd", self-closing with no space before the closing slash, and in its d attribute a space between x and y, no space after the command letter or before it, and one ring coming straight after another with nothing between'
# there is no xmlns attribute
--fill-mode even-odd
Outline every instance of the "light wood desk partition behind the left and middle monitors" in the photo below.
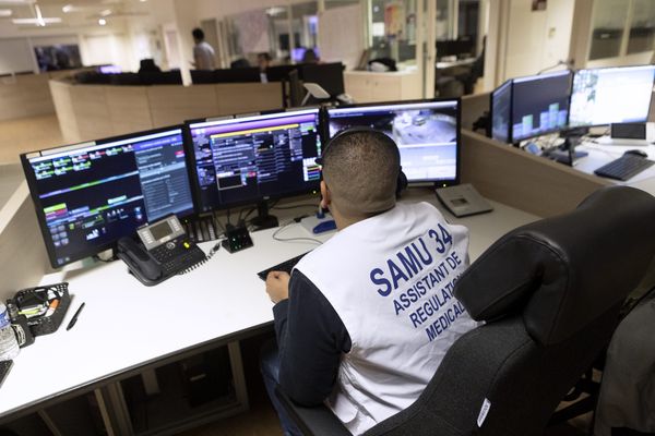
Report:
<svg viewBox="0 0 655 436"><path fill-rule="evenodd" d="M61 133L71 144L282 107L281 83L105 86L56 80L50 92Z"/></svg>

